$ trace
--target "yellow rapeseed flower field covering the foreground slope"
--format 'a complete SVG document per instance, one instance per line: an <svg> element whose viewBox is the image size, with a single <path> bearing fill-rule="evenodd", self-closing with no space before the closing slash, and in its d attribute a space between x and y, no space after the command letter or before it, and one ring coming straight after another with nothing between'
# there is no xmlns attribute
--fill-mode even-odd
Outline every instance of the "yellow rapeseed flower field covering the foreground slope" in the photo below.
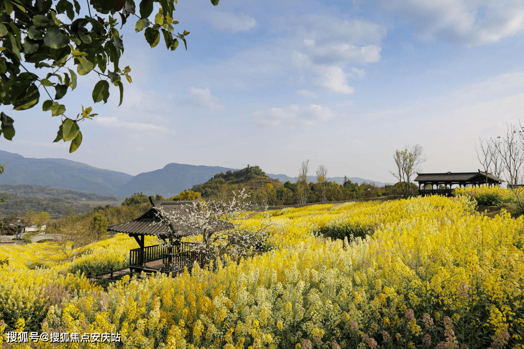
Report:
<svg viewBox="0 0 524 349"><path fill-rule="evenodd" d="M103 345L125 348L522 349L524 219L475 206L433 196L271 211L267 253L107 290L80 272L125 264L134 240L68 263L42 257L46 244L3 247L0 333L119 333ZM353 232L369 235L330 238Z"/></svg>

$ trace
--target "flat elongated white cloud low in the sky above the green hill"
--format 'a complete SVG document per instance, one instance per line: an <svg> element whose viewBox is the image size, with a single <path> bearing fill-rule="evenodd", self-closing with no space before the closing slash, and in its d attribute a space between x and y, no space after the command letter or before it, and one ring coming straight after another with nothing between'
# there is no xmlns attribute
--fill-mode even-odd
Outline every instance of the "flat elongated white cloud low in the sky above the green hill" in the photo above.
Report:
<svg viewBox="0 0 524 349"><path fill-rule="evenodd" d="M304 107L291 104L284 108L269 108L252 114L256 121L272 126L281 125L282 123L305 123L311 125L316 121L329 120L336 115L336 111L316 104Z"/></svg>

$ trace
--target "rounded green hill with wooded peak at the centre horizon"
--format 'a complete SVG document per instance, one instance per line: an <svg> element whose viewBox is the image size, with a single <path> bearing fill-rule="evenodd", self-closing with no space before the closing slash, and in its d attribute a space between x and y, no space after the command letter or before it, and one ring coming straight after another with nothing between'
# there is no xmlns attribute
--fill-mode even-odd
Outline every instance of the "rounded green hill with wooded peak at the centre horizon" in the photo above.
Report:
<svg viewBox="0 0 524 349"><path fill-rule="evenodd" d="M216 173L209 181L194 185L192 190L202 197L216 197L223 188L260 188L271 183L275 189L283 186L278 179L270 178L258 166L249 166L242 170Z"/></svg>

